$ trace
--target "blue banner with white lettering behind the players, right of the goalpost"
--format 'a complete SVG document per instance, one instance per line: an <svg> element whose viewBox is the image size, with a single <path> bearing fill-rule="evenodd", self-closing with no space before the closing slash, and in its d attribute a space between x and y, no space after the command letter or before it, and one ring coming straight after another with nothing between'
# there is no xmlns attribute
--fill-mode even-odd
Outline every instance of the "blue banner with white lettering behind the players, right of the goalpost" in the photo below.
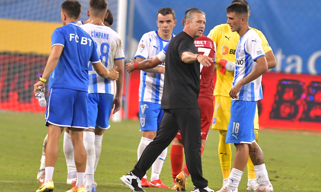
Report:
<svg viewBox="0 0 321 192"><path fill-rule="evenodd" d="M181 20L186 9L196 7L205 12L204 35L221 23L226 23L226 7L232 1L135 0L134 38L157 29L156 14L162 7L171 7L177 25L173 33L182 31ZM321 74L321 2L319 0L248 0L250 27L257 28L267 38L277 60L271 71Z"/></svg>

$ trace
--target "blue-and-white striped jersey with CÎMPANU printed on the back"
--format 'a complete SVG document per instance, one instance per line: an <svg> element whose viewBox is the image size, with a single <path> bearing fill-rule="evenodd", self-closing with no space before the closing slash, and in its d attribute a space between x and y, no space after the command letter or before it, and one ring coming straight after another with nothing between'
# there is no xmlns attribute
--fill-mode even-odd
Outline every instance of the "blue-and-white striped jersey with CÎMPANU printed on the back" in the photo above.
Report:
<svg viewBox="0 0 321 192"><path fill-rule="evenodd" d="M78 25L79 24L78 22ZM98 26L91 23L81 25L80 27L85 30L97 44L99 58L108 70L114 68L114 60L125 59L121 40L116 31L107 26ZM88 93L114 94L114 81L99 76L92 67L91 62L88 64L88 74Z"/></svg>

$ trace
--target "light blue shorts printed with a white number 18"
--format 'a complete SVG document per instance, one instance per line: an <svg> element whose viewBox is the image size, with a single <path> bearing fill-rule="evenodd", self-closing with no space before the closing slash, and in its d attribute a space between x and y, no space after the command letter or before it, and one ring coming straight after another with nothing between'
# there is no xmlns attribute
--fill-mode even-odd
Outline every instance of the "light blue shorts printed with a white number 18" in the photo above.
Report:
<svg viewBox="0 0 321 192"><path fill-rule="evenodd" d="M255 141L254 116L256 101L232 100L231 118L226 133L226 143L248 143Z"/></svg>

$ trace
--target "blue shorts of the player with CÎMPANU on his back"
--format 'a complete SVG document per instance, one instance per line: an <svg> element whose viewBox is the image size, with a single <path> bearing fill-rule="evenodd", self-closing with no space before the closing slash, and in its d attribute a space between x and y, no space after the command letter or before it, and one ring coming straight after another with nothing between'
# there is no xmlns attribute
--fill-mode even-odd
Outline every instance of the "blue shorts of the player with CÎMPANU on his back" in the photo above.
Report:
<svg viewBox="0 0 321 192"><path fill-rule="evenodd" d="M114 95L109 93L88 94L88 124L89 128L108 129L109 117L113 107Z"/></svg>

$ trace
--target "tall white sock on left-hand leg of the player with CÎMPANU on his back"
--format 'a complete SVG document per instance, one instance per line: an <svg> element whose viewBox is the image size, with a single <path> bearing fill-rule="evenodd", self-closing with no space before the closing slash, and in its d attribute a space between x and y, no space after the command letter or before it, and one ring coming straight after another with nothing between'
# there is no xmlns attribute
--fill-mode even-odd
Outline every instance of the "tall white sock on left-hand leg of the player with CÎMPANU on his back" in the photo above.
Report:
<svg viewBox="0 0 321 192"><path fill-rule="evenodd" d="M83 145L87 152L87 163L86 163L86 186L92 186L94 184L94 166L95 166L95 133L84 131L83 132Z"/></svg>

